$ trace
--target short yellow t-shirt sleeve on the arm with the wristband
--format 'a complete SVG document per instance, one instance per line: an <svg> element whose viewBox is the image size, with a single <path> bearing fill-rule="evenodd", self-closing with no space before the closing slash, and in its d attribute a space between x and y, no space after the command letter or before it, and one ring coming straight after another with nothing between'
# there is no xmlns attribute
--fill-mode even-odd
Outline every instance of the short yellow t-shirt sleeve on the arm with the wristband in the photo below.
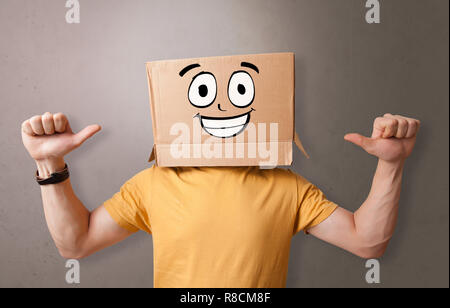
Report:
<svg viewBox="0 0 450 308"><path fill-rule="evenodd" d="M111 199L105 201L103 206L122 228L131 232L143 230L151 234L144 201L139 189L139 180L135 176L128 180Z"/></svg>

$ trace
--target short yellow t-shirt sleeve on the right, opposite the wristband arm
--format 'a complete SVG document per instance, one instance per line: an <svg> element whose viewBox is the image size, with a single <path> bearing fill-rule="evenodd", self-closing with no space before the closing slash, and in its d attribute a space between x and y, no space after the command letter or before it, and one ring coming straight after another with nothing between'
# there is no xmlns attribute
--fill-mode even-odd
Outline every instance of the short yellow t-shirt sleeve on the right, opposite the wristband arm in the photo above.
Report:
<svg viewBox="0 0 450 308"><path fill-rule="evenodd" d="M297 213L294 234L299 231L308 233L308 229L327 219L338 207L327 200L323 192L303 177L296 175Z"/></svg>

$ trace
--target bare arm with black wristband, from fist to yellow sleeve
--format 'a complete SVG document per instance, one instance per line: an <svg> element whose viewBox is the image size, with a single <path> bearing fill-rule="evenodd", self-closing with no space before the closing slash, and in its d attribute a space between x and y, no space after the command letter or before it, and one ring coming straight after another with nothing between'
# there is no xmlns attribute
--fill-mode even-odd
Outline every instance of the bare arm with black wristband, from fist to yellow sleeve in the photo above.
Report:
<svg viewBox="0 0 450 308"><path fill-rule="evenodd" d="M64 156L100 130L91 125L74 134L63 114L35 116L22 124L22 140L46 178L64 168ZM75 195L70 179L41 186L49 231L65 258L79 259L113 245L131 232L121 228L101 206L89 212Z"/></svg>

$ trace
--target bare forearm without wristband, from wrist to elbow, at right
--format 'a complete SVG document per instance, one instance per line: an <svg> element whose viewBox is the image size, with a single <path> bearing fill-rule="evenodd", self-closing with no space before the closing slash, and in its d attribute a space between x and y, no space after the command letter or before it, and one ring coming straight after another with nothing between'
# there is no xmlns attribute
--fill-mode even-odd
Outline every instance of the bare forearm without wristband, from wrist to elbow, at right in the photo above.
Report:
<svg viewBox="0 0 450 308"><path fill-rule="evenodd" d="M384 252L397 222L404 162L378 161L366 201L354 213L355 231L367 249Z"/></svg>

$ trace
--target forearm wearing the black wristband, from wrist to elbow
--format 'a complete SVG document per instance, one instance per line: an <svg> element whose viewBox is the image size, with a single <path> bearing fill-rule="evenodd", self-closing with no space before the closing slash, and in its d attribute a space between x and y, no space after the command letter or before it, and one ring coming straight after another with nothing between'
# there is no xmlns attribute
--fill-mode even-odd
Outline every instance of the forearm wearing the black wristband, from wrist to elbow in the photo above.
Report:
<svg viewBox="0 0 450 308"><path fill-rule="evenodd" d="M62 159L37 162L41 177L63 167ZM88 233L90 212L75 195L70 179L41 186L41 195L47 225L58 250L63 256L76 255Z"/></svg>

